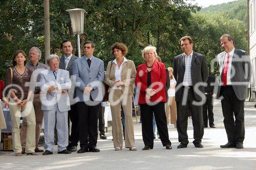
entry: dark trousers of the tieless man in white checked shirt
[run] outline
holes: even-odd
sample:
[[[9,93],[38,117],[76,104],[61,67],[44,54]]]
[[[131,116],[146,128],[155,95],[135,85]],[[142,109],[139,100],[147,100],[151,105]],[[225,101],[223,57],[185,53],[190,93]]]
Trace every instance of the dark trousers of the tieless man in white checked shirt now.
[[[183,87],[183,94],[185,87]],[[182,94],[182,95],[183,95]],[[203,123],[203,106],[196,106],[193,101],[198,102],[195,98],[193,88],[188,89],[187,98],[185,99],[185,105],[182,106],[182,100],[176,102],[177,105],[177,131],[179,135],[179,142],[188,144],[187,136],[187,117],[189,110],[192,115],[192,123],[194,128],[194,141],[193,143],[201,143],[204,135],[204,123]],[[184,98],[184,95],[183,95]]]

